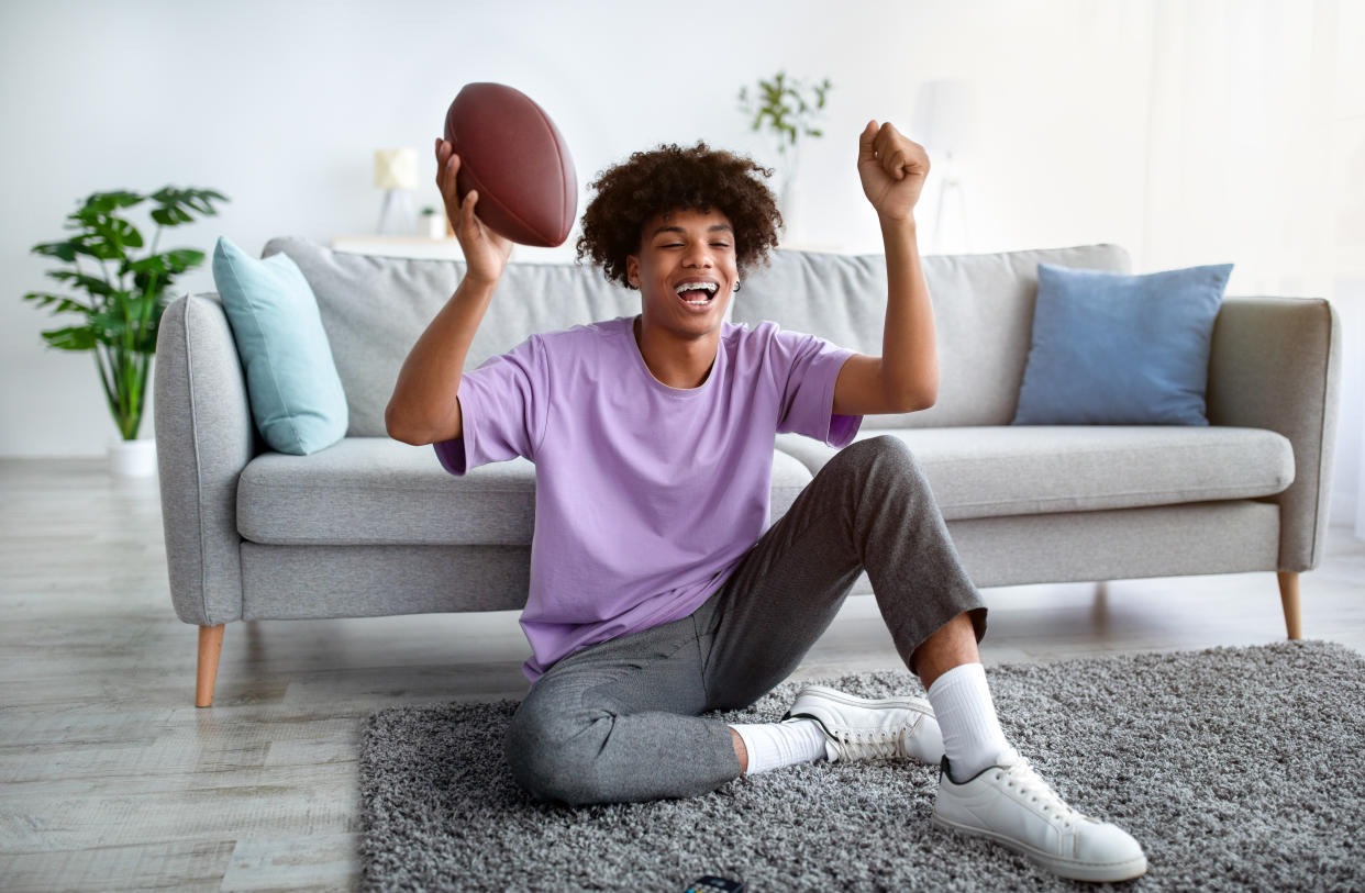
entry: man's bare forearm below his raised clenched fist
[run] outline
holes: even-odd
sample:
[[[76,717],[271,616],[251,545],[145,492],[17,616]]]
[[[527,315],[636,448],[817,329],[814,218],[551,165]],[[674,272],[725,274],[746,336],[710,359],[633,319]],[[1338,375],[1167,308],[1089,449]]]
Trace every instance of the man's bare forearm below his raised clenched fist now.
[[[915,218],[882,221],[886,245],[882,382],[887,395],[898,402],[928,408],[938,399],[938,348],[917,239]]]

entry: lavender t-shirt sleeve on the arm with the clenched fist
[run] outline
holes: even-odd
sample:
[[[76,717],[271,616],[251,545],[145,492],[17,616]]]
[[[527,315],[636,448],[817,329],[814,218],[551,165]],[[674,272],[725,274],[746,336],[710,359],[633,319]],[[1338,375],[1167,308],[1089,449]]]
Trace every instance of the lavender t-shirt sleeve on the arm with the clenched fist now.
[[[823,338],[778,329],[768,345],[778,369],[786,368],[777,429],[815,438],[833,447],[846,447],[863,424],[863,416],[834,414],[834,383],[853,350]]]

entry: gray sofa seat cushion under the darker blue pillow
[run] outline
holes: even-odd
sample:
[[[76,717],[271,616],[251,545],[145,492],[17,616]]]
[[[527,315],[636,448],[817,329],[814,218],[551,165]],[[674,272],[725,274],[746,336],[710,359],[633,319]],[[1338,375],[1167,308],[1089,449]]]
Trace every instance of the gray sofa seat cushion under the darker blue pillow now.
[[[1294,480],[1290,442],[1261,428],[990,427],[863,431],[910,447],[949,521],[1254,499]],[[837,450],[778,435],[819,469]]]

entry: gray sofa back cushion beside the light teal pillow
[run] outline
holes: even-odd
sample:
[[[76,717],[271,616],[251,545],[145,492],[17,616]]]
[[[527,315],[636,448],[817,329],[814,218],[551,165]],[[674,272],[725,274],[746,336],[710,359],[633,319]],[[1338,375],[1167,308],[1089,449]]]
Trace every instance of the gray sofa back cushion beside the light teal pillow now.
[[[300,236],[272,239],[318,297],[351,410],[347,436],[382,438],[384,408],[412,345],[450,300],[464,263],[382,258],[324,248]],[[640,312],[640,293],[607,282],[595,267],[509,263],[470,345],[464,368],[506,353],[532,333]]]

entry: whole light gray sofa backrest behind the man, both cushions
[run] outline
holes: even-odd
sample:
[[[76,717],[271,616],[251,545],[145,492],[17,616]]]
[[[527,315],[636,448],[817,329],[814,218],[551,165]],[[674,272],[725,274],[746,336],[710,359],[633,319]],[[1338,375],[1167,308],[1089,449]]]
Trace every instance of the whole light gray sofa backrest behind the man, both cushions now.
[[[345,387],[348,436],[384,436],[384,408],[418,337],[464,275],[459,260],[385,258],[332,251],[288,236],[263,256],[287,254],[318,299],[322,326]],[[870,416],[868,428],[999,425],[1014,417],[1032,339],[1037,264],[1127,273],[1119,245],[924,258],[934,303],[939,399],[906,416]],[[511,263],[502,274],[465,368],[554,331],[640,312],[640,293],[573,263]],[[886,259],[777,251],[736,296],[732,318],[774,320],[860,353],[882,353]]]

